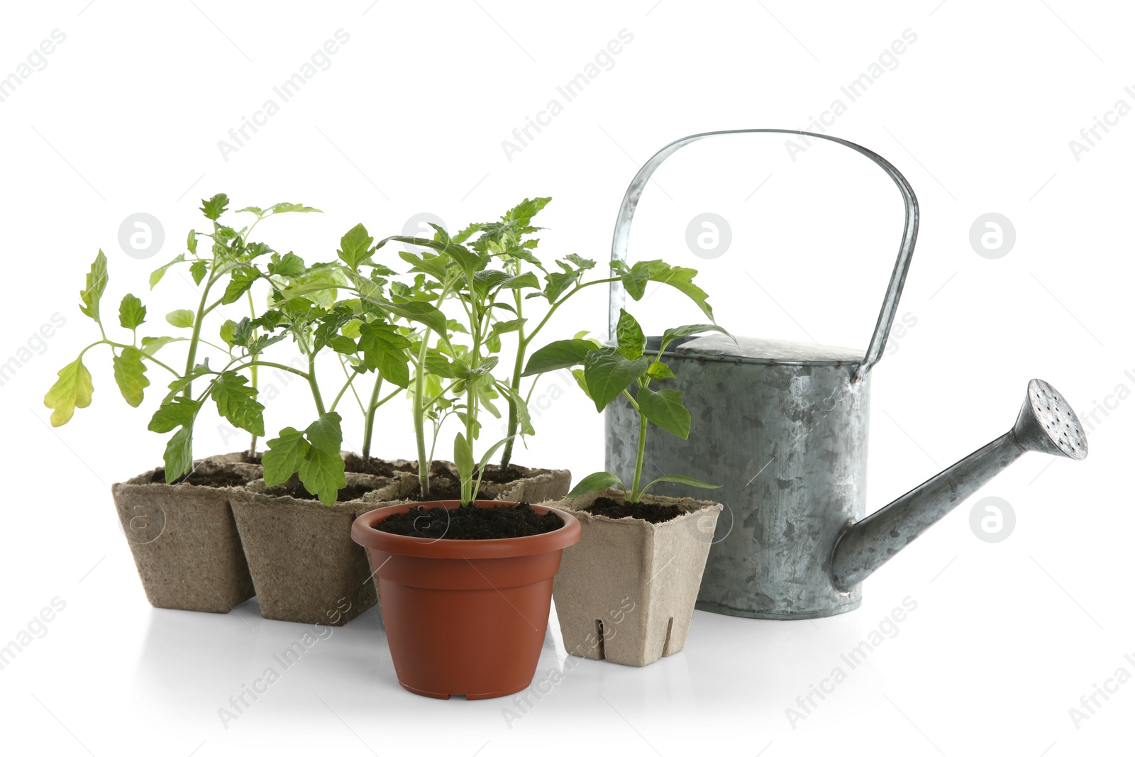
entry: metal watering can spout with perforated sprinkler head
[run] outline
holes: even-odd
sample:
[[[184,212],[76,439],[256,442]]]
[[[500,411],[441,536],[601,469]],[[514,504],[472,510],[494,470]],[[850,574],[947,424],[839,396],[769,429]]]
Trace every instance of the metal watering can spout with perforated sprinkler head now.
[[[832,553],[832,581],[850,591],[1026,452],[1087,456],[1084,429],[1046,381],[1033,379],[1012,429],[882,510],[847,527]]]

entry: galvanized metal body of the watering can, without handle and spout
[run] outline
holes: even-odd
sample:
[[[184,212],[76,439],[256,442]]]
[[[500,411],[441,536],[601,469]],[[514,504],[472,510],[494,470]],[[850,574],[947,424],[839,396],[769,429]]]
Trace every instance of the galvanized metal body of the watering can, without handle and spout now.
[[[653,434],[646,447],[648,478],[680,472],[721,485],[711,496],[725,510],[697,607],[767,619],[854,609],[859,586],[836,588],[831,562],[840,533],[866,513],[871,376],[852,380],[863,353],[737,340],[713,335],[667,348],[693,423],[688,440]],[[630,404],[612,403],[606,427],[607,470],[632,472]]]

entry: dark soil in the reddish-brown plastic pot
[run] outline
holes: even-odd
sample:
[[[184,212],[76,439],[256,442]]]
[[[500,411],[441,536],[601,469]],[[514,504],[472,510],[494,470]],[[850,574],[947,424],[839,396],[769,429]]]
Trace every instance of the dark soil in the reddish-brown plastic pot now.
[[[512,539],[548,533],[563,527],[555,513],[540,515],[527,502],[512,506],[424,507],[390,515],[375,524],[386,533],[429,539]]]

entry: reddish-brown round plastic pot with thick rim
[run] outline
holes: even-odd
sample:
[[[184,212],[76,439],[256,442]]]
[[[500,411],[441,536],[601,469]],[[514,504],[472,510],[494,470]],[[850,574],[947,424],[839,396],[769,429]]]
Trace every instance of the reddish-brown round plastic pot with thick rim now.
[[[428,503],[453,510],[461,503]],[[514,505],[479,499],[479,507]],[[565,547],[579,541],[574,515],[561,529],[514,539],[423,539],[376,523],[418,503],[363,513],[351,538],[370,553],[386,638],[402,688],[423,697],[504,697],[532,682],[548,628],[552,579]]]

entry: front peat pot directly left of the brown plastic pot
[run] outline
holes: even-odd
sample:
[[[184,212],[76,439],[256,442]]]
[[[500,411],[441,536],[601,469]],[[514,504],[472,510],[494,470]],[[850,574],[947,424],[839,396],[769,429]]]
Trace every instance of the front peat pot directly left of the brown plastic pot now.
[[[347,473],[340,502],[325,505],[299,479],[266,487],[252,481],[233,499],[257,589],[260,614],[274,621],[343,625],[375,606],[367,554],[351,540],[351,524],[389,499],[400,482]]]

